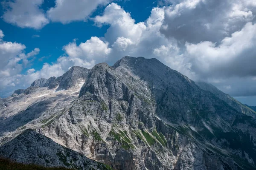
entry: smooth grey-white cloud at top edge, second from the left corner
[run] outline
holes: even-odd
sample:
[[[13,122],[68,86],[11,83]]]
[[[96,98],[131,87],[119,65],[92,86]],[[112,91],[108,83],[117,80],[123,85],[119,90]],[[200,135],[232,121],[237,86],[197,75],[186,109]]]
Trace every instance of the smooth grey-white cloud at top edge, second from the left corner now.
[[[63,24],[71,21],[86,20],[99,5],[109,0],[55,0],[55,7],[47,11],[47,16],[54,22]]]

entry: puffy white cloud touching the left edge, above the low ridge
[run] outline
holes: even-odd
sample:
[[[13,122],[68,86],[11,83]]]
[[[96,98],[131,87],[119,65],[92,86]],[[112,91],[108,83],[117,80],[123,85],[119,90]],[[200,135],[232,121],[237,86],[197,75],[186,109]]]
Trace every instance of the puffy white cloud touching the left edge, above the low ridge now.
[[[25,53],[26,46],[17,42],[0,41],[0,94],[6,96],[19,87],[26,87],[25,75],[21,71],[29,62],[29,58],[37,55],[40,51],[35,48]],[[32,69],[27,71],[32,73]]]

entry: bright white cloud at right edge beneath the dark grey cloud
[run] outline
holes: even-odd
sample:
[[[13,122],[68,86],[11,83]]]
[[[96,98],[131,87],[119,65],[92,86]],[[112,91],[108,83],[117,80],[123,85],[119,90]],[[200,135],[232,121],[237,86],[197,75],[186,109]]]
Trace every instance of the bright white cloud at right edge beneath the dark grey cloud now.
[[[188,62],[200,78],[256,76],[256,24],[247,23],[219,45],[186,43]]]

